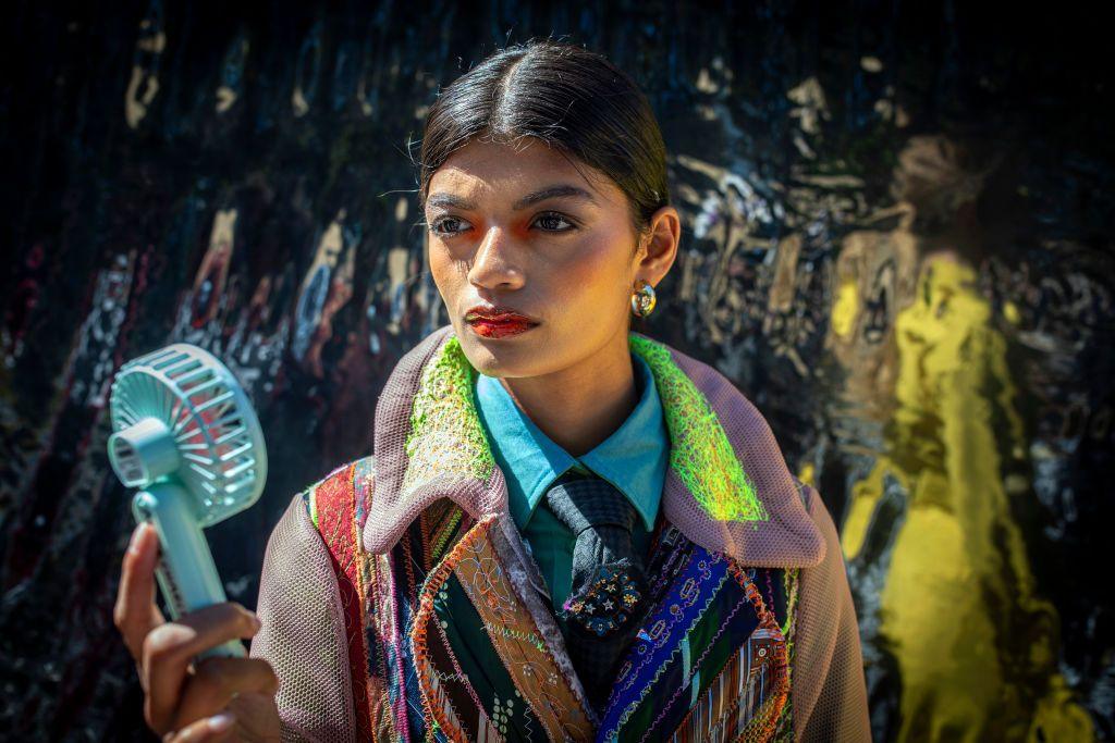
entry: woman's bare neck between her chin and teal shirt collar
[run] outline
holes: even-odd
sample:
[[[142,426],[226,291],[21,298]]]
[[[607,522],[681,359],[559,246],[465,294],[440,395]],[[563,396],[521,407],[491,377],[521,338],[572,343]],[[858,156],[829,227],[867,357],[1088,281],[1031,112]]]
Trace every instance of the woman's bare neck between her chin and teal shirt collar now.
[[[534,424],[573,457],[611,436],[638,402],[626,327],[571,366],[501,383]]]

